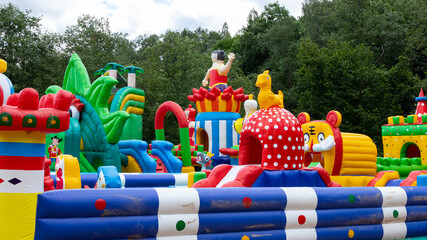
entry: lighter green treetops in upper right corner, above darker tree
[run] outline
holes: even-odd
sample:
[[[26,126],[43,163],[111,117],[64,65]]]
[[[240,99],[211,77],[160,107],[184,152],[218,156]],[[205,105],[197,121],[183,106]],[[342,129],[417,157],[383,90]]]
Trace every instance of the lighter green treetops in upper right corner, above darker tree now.
[[[306,36],[322,47],[329,41],[364,44],[373,52],[375,65],[386,68],[405,56],[411,71],[424,79],[425,9],[422,0],[306,0],[300,22]]]

